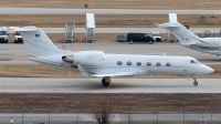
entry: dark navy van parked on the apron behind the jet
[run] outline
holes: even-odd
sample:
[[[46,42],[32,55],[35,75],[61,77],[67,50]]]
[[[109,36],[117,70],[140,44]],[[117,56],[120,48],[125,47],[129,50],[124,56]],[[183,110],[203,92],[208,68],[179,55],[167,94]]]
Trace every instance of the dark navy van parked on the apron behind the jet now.
[[[129,32],[127,33],[127,42],[133,44],[134,42],[149,42],[149,44],[154,43],[154,38],[148,33],[141,32]]]

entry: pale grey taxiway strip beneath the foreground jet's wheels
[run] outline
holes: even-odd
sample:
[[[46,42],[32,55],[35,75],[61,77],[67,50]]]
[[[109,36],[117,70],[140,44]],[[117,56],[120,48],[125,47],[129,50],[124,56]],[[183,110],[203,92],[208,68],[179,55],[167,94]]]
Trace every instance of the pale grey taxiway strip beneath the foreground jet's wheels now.
[[[221,79],[101,79],[0,78],[3,93],[221,93]]]

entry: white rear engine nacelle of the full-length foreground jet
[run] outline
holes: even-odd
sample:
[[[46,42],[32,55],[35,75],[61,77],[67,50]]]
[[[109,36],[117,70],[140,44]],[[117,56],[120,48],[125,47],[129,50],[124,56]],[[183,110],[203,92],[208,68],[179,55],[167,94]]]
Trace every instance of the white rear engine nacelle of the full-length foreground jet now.
[[[72,55],[64,55],[62,60],[73,64],[101,65],[105,61],[105,54],[103,51],[80,51]]]

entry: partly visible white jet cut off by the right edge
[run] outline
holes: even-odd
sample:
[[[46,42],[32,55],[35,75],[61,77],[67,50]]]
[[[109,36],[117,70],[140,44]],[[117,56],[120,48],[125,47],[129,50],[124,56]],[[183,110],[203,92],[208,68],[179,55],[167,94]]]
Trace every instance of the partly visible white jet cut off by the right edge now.
[[[169,13],[169,22],[158,24],[158,28],[169,30],[181,45],[203,52],[220,55],[221,38],[199,38],[177,21],[177,13]]]

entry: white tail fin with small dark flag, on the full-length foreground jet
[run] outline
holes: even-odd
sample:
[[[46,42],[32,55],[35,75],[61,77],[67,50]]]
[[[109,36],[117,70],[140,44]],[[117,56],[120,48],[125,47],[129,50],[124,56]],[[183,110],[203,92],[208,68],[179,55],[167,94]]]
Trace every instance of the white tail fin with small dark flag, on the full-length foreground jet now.
[[[35,27],[10,27],[9,29],[21,33],[27,51],[31,56],[53,55],[61,51],[41,29]]]

